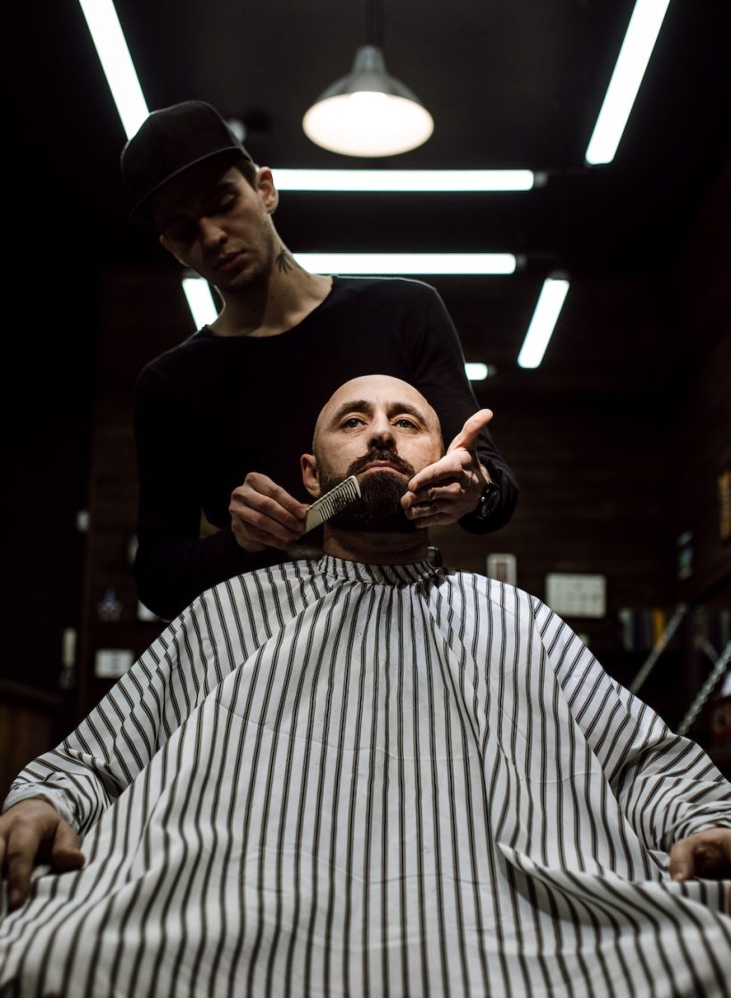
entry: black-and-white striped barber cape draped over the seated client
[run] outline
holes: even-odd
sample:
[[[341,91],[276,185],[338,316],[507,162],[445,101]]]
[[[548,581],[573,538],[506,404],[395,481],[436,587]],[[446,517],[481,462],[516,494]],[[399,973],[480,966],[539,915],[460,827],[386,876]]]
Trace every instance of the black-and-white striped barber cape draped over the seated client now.
[[[39,792],[87,863],[0,922],[3,995],[731,994],[728,884],[666,872],[729,783],[481,576],[224,583],[6,804]]]

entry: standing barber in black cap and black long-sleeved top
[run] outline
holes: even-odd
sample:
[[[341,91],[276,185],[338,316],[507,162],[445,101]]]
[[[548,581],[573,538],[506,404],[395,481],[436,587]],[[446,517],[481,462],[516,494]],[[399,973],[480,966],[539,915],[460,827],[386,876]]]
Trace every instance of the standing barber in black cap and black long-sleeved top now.
[[[222,301],[214,322],[147,364],[135,386],[134,574],[149,609],[171,619],[218,582],[302,553],[307,497],[292,469],[335,388],[371,371],[412,383],[445,434],[444,457],[409,483],[407,515],[476,534],[508,521],[517,484],[485,428],[491,413],[477,414],[433,287],[301,267],[274,226],[272,171],[204,102],[153,112],[121,169],[132,219]]]

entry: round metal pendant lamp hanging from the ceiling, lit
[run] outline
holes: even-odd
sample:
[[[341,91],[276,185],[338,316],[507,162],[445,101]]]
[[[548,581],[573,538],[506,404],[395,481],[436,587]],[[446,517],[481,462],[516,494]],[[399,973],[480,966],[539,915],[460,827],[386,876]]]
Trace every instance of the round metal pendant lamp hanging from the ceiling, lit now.
[[[320,95],[302,125],[318,146],[346,156],[406,153],[434,129],[418,98],[388,75],[375,45],[361,46],[351,73]]]

